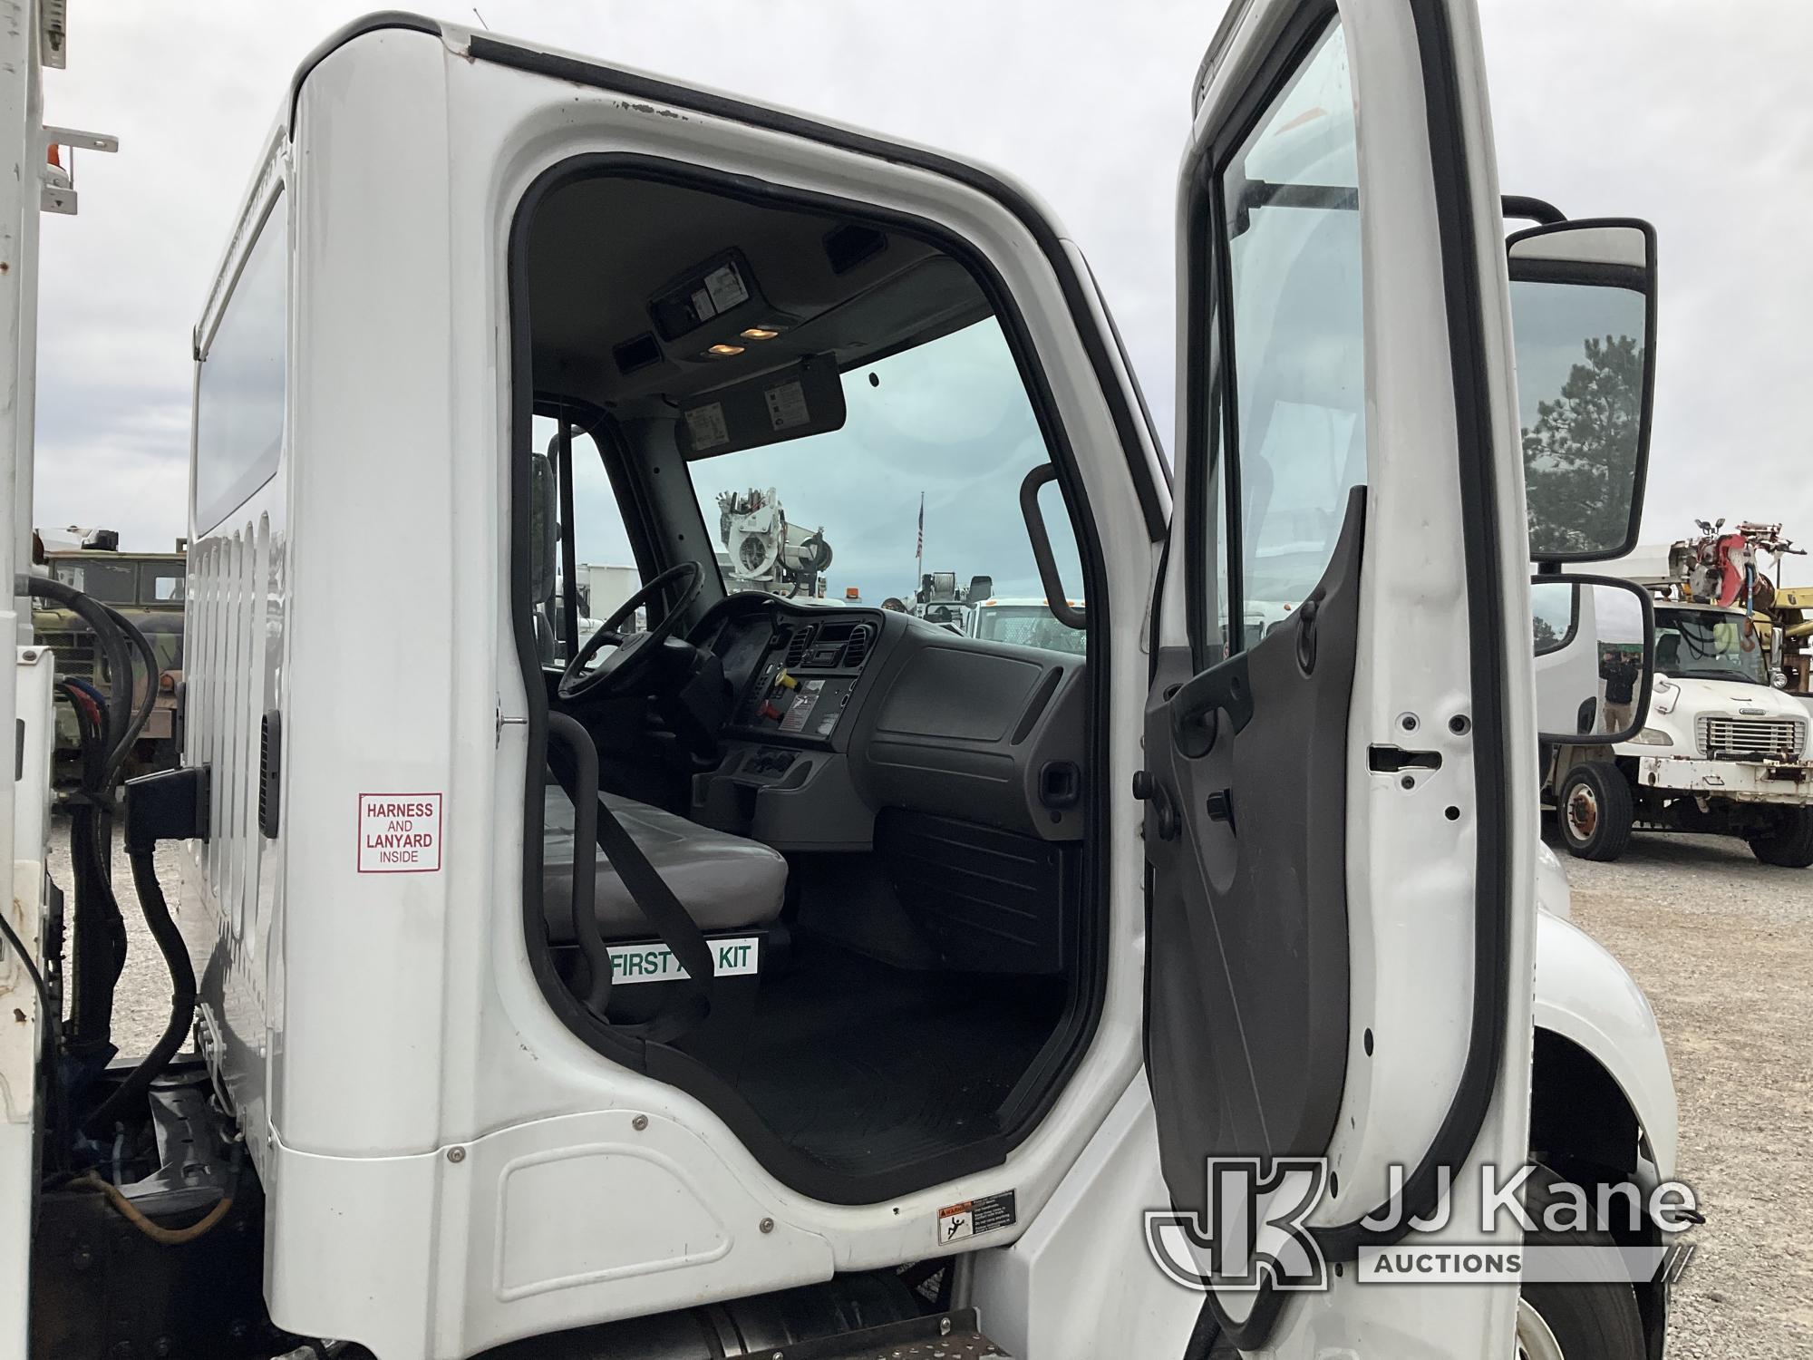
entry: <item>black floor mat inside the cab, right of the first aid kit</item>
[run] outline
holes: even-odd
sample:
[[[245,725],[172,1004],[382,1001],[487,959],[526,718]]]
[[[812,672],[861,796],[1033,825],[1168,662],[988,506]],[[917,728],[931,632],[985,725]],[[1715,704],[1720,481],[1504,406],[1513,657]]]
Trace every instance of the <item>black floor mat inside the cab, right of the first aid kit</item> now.
[[[738,1088],[827,1168],[887,1171],[995,1137],[1061,1006],[1052,977],[914,974],[800,941],[763,983]]]

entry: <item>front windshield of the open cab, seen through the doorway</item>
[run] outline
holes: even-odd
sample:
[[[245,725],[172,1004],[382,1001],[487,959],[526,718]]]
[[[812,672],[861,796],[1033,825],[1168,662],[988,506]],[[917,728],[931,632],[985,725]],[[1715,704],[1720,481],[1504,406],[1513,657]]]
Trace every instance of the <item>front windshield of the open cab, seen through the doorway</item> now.
[[[1001,325],[858,364],[841,384],[843,428],[687,464],[725,588],[834,600],[854,588],[954,618],[979,577],[988,595],[1044,598],[1019,488],[1050,455]],[[1061,580],[1081,586],[1055,484],[1039,504]]]

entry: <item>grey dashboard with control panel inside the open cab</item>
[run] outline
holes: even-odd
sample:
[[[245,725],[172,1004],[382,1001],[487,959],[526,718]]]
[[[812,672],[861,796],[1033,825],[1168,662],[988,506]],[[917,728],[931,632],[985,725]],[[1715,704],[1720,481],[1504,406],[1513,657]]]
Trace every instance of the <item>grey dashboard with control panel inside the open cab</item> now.
[[[778,849],[865,849],[885,809],[1082,834],[1082,656],[754,591],[691,640],[731,687],[694,821]]]

